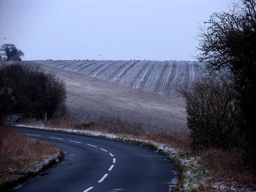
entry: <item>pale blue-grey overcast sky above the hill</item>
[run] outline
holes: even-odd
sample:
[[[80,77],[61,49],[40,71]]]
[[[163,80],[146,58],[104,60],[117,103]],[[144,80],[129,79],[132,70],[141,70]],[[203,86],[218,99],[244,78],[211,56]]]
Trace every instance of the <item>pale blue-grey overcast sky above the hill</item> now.
[[[198,24],[233,2],[0,0],[0,45],[24,60],[194,60]]]

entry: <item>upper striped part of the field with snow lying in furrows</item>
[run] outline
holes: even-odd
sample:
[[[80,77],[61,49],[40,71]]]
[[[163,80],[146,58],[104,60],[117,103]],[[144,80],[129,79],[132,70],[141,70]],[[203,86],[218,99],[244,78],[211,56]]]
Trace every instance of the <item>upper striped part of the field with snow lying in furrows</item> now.
[[[202,63],[184,61],[37,61],[100,80],[177,98],[177,90],[201,76]]]

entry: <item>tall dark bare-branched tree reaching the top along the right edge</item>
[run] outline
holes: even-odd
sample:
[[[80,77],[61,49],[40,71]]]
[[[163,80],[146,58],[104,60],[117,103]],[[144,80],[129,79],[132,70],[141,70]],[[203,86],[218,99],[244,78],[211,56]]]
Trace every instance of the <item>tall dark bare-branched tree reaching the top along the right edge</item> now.
[[[233,74],[241,111],[244,148],[256,158],[256,2],[242,0],[229,12],[214,13],[199,35],[198,59],[209,69],[228,69]],[[256,165],[256,161],[254,162]]]

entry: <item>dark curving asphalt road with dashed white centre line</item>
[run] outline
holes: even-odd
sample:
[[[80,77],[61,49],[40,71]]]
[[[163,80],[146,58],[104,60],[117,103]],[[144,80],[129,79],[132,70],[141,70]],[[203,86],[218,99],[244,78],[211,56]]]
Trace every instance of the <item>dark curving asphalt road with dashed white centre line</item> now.
[[[154,150],[78,134],[20,130],[60,147],[65,156],[13,191],[171,191],[175,186],[176,166]]]

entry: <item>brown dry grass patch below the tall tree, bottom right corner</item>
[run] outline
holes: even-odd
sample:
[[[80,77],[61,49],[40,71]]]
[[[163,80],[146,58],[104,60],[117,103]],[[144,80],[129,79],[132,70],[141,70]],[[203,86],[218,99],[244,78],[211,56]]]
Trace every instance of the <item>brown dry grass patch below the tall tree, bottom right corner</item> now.
[[[255,187],[255,172],[244,162],[240,150],[208,149],[201,151],[200,156],[202,163],[213,171],[213,181],[224,181],[227,186]]]

